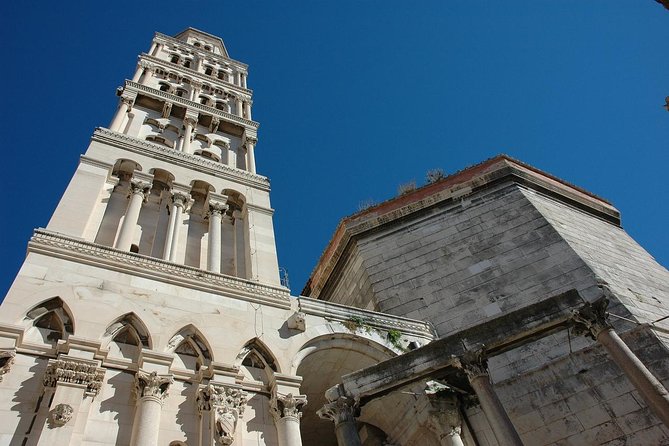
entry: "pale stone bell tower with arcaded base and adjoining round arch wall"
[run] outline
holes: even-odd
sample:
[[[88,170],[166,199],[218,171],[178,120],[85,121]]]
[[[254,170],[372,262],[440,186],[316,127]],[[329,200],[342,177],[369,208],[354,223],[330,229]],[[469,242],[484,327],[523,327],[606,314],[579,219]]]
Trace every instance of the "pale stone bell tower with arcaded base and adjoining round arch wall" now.
[[[0,307],[0,444],[331,444],[325,389],[433,339],[281,285],[247,73],[193,29],[140,56]]]

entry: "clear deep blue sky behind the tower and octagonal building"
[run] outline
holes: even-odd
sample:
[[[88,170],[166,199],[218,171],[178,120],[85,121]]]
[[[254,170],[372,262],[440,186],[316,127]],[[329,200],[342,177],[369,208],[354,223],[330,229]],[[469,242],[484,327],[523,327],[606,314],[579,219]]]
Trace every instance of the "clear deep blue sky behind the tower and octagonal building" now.
[[[508,153],[609,199],[669,264],[669,11],[653,0],[5,2],[0,294],[154,31],[250,65],[299,293],[339,219]]]

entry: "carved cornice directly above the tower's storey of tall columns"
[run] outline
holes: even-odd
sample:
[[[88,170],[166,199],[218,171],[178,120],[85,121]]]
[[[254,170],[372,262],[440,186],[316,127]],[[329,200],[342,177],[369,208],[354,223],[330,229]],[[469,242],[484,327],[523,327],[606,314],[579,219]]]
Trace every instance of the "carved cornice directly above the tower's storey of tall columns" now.
[[[170,149],[169,147],[161,146],[160,144],[154,144],[103,127],[95,129],[92,139],[93,141],[110,144],[158,160],[169,161],[183,167],[234,181],[255,189],[269,191],[269,180],[262,175],[257,175],[246,170],[234,169],[225,164],[202,158],[201,156],[180,152],[175,149]]]

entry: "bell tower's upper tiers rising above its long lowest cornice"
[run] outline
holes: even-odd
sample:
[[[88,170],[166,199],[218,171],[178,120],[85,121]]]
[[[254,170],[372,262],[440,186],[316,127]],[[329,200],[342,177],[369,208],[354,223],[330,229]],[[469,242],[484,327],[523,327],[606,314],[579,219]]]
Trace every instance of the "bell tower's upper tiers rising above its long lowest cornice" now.
[[[47,230],[278,285],[247,68],[218,37],[156,34]]]

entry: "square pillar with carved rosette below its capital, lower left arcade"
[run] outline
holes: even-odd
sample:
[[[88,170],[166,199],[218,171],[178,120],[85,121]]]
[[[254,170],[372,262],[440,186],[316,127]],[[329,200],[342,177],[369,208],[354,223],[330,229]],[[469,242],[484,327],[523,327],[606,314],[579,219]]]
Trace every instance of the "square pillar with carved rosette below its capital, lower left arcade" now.
[[[30,444],[52,446],[70,444],[78,417],[88,417],[93,398],[100,392],[105,370],[98,361],[61,355],[49,360],[44,374],[42,402],[35,426],[41,426],[39,438]]]

